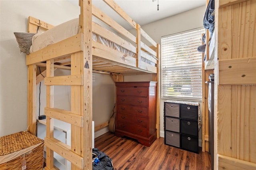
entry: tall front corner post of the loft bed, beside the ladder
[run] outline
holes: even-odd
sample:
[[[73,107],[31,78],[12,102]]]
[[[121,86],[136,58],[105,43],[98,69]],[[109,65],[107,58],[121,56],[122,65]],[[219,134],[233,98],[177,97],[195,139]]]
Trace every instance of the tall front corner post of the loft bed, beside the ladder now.
[[[84,170],[92,169],[92,1],[80,0],[80,26],[83,33],[83,158]]]

